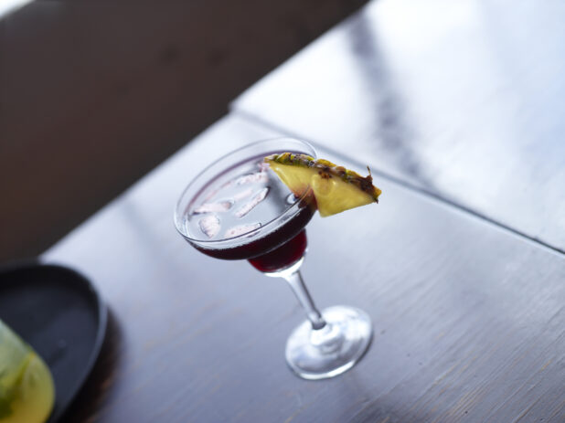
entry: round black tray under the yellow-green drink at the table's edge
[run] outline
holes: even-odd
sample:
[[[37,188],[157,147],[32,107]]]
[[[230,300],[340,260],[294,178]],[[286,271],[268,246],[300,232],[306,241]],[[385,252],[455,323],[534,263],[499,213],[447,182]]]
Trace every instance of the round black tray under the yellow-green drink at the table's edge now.
[[[57,421],[91,372],[106,331],[107,312],[91,282],[56,265],[0,270],[0,319],[30,344],[55,382]]]

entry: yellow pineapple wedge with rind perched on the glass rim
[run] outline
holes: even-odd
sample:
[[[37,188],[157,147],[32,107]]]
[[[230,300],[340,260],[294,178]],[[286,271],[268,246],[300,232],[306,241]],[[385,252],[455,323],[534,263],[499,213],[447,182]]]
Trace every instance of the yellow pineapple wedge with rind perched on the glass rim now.
[[[380,189],[373,178],[306,154],[272,154],[264,159],[295,196],[312,187],[320,216],[332,216],[350,208],[378,203]]]

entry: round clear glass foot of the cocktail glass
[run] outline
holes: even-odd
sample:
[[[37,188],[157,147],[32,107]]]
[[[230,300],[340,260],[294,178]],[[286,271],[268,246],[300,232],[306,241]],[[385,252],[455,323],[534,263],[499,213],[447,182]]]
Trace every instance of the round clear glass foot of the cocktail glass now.
[[[326,325],[300,324],[286,342],[286,362],[304,379],[341,375],[365,354],[373,329],[366,312],[337,305],[322,312]]]

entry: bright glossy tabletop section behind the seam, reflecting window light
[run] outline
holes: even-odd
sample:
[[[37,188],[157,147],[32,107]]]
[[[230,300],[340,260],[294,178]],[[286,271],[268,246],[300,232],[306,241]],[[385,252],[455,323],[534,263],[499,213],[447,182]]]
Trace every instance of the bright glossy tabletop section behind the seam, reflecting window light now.
[[[236,111],[565,251],[565,2],[379,0]]]

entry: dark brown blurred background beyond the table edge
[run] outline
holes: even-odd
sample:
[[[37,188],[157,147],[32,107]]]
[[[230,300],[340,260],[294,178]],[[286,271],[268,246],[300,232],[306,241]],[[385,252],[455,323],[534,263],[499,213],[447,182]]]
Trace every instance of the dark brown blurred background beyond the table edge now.
[[[0,16],[0,261],[40,254],[364,3],[37,0]]]

